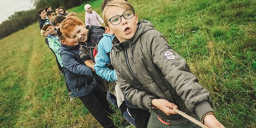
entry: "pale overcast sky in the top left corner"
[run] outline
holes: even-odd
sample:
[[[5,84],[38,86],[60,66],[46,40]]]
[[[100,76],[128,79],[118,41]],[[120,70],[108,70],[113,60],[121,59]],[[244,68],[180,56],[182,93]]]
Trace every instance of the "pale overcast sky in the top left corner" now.
[[[0,0],[0,23],[7,20],[14,12],[33,8],[32,0]]]

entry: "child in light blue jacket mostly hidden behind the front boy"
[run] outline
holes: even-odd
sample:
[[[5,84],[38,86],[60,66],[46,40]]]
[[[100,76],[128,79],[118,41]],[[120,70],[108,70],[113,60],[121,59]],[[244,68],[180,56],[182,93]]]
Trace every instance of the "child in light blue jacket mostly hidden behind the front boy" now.
[[[112,0],[104,0],[102,3],[102,10],[104,9],[106,3]],[[116,99],[117,106],[120,108],[121,112],[129,112],[131,116],[135,119],[135,124],[137,128],[146,128],[148,124],[148,119],[150,117],[150,113],[146,110],[140,109],[138,106],[132,105],[131,102],[128,102],[121,91],[119,86],[116,85],[117,75],[115,70],[113,70],[113,66],[110,62],[110,52],[112,46],[112,40],[114,38],[113,32],[107,33],[103,35],[103,38],[98,44],[98,54],[96,55],[95,62],[96,64],[93,66],[96,74],[101,76],[106,80],[106,84],[108,85],[109,90],[114,95],[110,95],[112,99]],[[122,104],[123,103],[123,104]],[[128,107],[128,108],[127,108]],[[126,111],[122,111],[126,109]],[[125,116],[125,115],[124,115]],[[126,118],[129,119],[129,118]],[[131,121],[130,121],[131,122]]]

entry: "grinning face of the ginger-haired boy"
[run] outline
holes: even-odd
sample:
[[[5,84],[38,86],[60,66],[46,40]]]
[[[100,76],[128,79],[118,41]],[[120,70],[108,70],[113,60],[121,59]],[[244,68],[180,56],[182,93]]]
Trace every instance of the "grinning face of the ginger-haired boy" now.
[[[84,25],[76,25],[73,30],[69,32],[69,37],[78,42],[86,42],[89,30]]]

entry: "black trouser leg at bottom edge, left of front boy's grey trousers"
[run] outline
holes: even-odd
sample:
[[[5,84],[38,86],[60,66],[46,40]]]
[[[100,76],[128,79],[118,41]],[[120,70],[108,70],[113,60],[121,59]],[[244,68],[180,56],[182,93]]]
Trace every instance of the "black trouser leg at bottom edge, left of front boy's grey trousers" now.
[[[148,110],[128,108],[131,116],[135,119],[136,128],[147,128],[150,113]]]

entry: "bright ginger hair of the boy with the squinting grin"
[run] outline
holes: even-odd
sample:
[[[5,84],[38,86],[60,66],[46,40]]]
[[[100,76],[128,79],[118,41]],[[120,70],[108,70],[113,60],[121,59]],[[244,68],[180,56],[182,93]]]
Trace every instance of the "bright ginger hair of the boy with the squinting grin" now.
[[[70,38],[69,32],[73,31],[73,29],[78,25],[84,26],[84,22],[80,20],[79,17],[76,17],[76,16],[67,17],[65,20],[61,22],[62,36]]]

